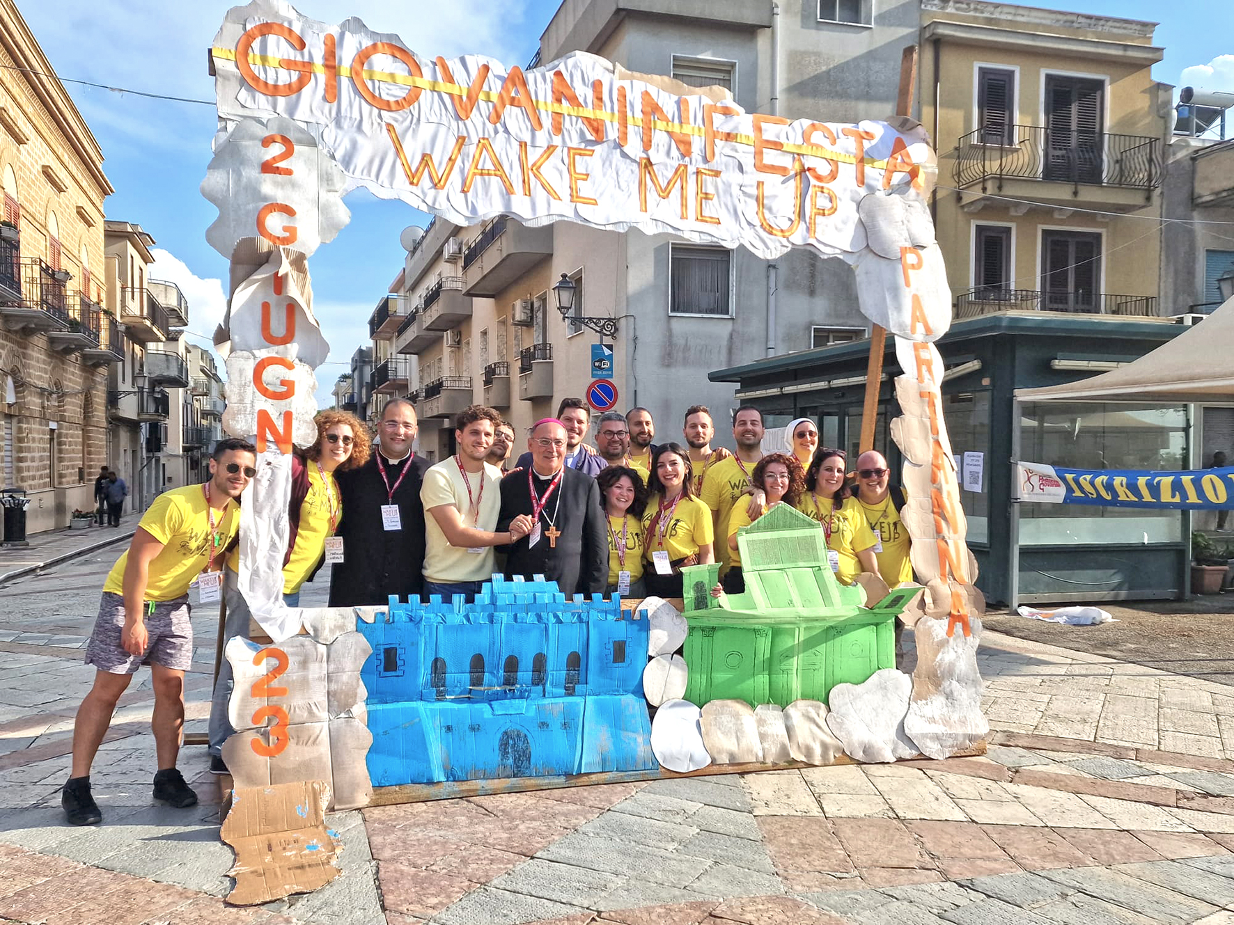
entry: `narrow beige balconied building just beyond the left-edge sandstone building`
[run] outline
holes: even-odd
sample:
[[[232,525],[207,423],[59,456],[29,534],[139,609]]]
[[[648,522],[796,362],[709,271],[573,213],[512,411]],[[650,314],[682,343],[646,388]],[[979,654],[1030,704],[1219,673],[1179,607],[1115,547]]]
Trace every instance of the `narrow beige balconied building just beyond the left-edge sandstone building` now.
[[[143,511],[189,481],[183,429],[193,418],[184,408],[191,377],[180,333],[189,305],[174,282],[149,279],[154,238],[139,224],[107,220],[104,239],[106,305],[126,333],[107,380],[107,460],[128,483],[131,509]]]

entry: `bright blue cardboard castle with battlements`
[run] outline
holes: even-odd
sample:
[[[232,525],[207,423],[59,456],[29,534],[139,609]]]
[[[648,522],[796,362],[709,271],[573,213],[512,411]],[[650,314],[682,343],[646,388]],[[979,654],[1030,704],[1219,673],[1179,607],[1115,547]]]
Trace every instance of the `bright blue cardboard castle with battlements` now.
[[[391,598],[357,629],[374,786],[656,767],[648,620],[616,597],[494,575],[475,603]]]

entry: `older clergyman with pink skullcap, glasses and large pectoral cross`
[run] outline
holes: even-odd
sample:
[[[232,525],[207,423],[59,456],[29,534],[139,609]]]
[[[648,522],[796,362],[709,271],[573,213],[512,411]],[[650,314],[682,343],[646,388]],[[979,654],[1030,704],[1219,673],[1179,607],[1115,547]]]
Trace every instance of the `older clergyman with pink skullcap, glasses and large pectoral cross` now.
[[[501,480],[497,532],[518,514],[532,518],[532,532],[505,546],[506,574],[531,581],[543,575],[561,593],[603,593],[608,580],[608,535],[600,486],[565,465],[566,433],[557,418],[532,426],[527,440],[531,465]]]

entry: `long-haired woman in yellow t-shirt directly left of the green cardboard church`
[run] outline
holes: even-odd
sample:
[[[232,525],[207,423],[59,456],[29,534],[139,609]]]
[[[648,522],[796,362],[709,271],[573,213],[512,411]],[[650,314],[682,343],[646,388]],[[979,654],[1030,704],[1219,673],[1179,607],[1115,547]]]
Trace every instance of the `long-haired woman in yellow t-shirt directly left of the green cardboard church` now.
[[[677,443],[656,448],[643,514],[643,580],[648,594],[681,597],[681,567],[716,561],[711,508],[694,497],[690,454]]]

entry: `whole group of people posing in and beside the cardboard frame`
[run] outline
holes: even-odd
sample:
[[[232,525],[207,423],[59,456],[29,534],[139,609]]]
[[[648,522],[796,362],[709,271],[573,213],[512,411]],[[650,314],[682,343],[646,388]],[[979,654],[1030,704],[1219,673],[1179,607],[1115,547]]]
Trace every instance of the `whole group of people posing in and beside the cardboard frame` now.
[[[735,453],[712,446],[714,423],[701,405],[686,409],[684,445],[655,444],[652,413],[632,408],[602,414],[592,448],[585,443],[590,418],[581,400],[564,400],[557,417],[529,428],[527,451],[507,467],[515,430],[486,406],[457,416],[457,453],[436,465],[413,449],[418,421],[407,400],[385,406],[375,440],[353,414],[318,413],[317,439],[292,454],[284,602],[296,606],[301,586],[325,564],[332,565],[331,607],[470,597],[497,571],[543,575],[566,596],[680,597],[681,569],[717,560],[722,590],[738,593],[744,582],[737,536],[782,503],[822,523],[839,581],[863,571],[888,585],[912,578],[903,496],[888,487],[879,453],[861,454],[854,487],[844,451],[819,448],[808,418],[793,421],[784,451],[770,454],[763,453],[763,414],[752,406],[734,416]],[[101,819],[90,766],[142,664],[152,666],[154,682],[154,797],[178,807],[196,803],[175,770],[193,655],[189,591],[197,586],[199,603],[226,601],[227,638],[247,634],[237,508],[255,465],[252,444],[220,442],[210,481],[159,496],[111,570],[86,650],[95,684],[78,710],[73,776],[62,798],[70,823]],[[225,661],[210,719],[217,773],[226,772],[222,744],[233,731],[230,694]]]

